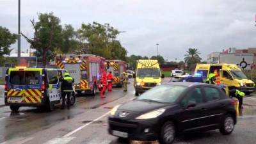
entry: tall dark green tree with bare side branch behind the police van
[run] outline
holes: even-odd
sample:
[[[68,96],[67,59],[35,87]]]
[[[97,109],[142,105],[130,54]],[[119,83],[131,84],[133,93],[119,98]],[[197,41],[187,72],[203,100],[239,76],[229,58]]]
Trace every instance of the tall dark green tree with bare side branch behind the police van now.
[[[53,15],[53,13],[39,13],[38,22],[30,20],[35,30],[34,37],[28,38],[23,35],[26,40],[31,44],[32,49],[36,49],[42,56],[42,63],[46,65],[49,61],[47,52],[54,54],[54,51],[61,47],[63,42],[62,39],[62,28],[60,25],[60,19]],[[51,56],[50,56],[51,57]]]

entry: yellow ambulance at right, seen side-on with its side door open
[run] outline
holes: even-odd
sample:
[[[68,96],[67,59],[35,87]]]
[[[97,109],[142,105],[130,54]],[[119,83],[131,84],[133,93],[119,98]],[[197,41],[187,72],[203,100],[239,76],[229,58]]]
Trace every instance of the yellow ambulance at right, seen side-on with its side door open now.
[[[195,74],[201,74],[203,77],[216,72],[217,80],[229,89],[236,88],[247,94],[254,91],[255,83],[248,79],[237,65],[227,63],[197,64],[195,68]]]

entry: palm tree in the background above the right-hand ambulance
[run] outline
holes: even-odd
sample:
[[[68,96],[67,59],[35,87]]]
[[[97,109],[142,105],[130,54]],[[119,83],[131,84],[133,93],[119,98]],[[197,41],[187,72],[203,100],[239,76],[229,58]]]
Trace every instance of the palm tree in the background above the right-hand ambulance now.
[[[199,54],[201,54],[198,49],[193,49],[193,48],[189,48],[188,49],[188,54],[185,54],[185,58],[184,61],[186,63],[188,63],[188,61],[193,61],[194,63],[200,63],[200,61],[202,60],[202,58],[200,58]]]

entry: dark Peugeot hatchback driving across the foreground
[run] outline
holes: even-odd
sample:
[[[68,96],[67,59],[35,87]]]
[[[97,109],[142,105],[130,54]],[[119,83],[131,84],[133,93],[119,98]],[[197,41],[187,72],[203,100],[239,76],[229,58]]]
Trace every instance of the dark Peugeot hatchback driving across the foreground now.
[[[168,83],[112,109],[109,134],[131,140],[173,143],[183,132],[220,129],[231,134],[235,102],[210,84]]]

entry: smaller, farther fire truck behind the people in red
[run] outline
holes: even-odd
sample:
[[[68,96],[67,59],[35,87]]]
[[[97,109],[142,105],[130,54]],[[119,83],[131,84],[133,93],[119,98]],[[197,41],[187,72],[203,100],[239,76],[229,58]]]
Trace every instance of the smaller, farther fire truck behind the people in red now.
[[[106,60],[107,72],[112,72],[114,81],[113,84],[122,87],[123,72],[126,72],[126,63],[122,60]]]

